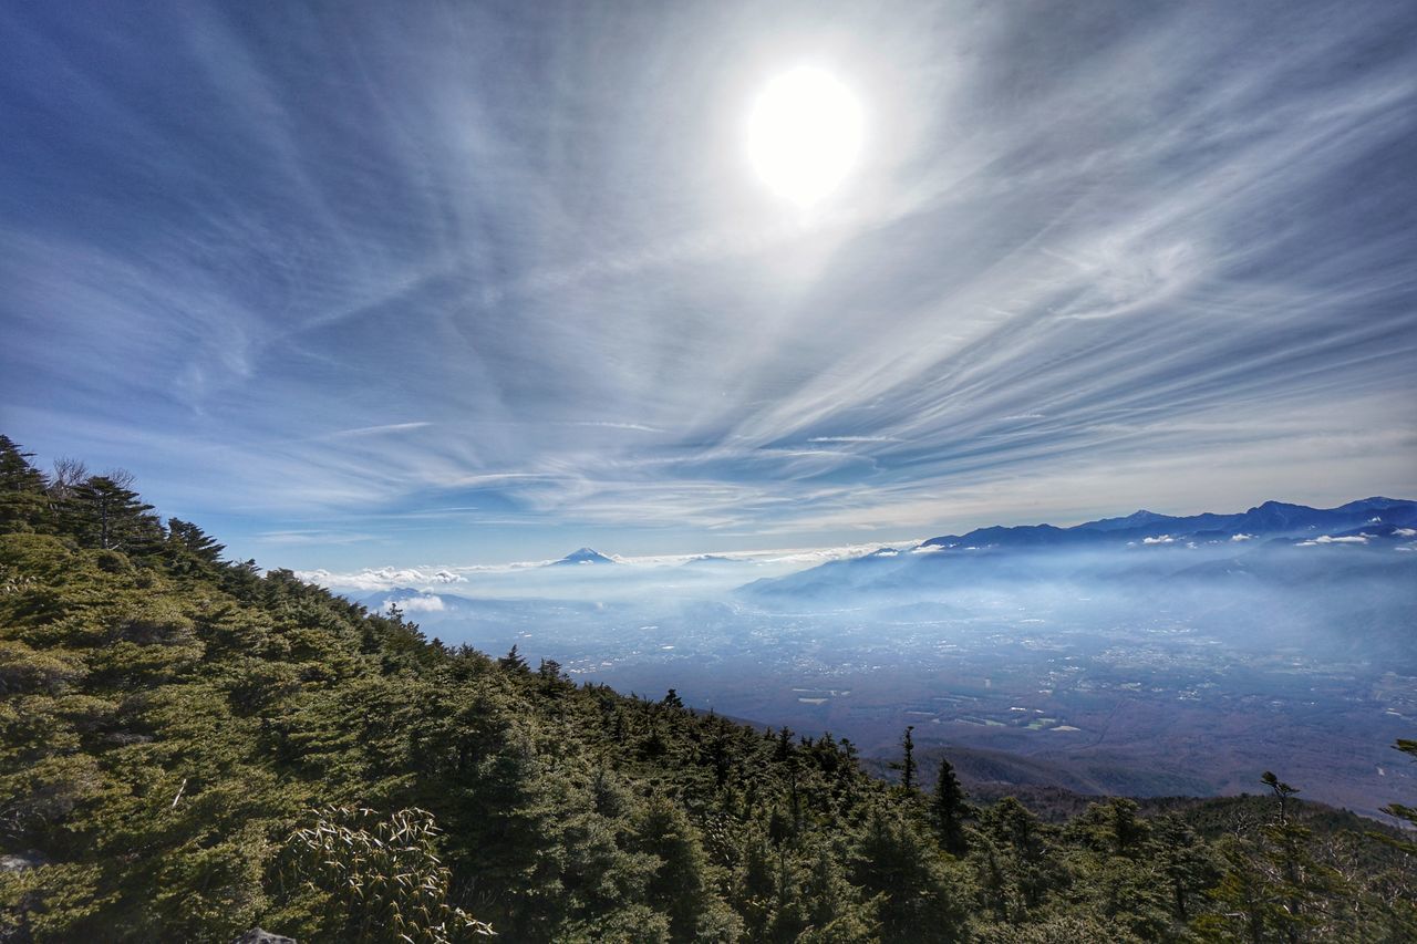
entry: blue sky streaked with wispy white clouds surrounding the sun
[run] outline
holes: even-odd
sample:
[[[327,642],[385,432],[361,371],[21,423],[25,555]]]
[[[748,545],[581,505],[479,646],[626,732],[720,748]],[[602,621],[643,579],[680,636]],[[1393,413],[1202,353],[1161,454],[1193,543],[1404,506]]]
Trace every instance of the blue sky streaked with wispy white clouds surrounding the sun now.
[[[1401,3],[7,3],[0,428],[266,566],[1417,493]],[[836,75],[803,210],[757,89]]]

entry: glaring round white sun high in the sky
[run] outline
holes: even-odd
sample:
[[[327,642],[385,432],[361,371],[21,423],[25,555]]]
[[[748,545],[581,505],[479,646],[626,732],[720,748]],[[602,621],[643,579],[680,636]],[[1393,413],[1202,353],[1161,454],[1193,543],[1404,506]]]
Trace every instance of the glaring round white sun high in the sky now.
[[[811,206],[842,183],[862,149],[862,108],[835,75],[799,67],[774,78],[748,115],[748,159],[777,194]]]

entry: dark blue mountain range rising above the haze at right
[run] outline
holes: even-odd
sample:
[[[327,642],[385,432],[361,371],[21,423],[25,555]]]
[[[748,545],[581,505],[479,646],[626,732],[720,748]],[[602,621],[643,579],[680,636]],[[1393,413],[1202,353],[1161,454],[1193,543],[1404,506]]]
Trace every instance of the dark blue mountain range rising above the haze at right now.
[[[1369,570],[1417,566],[1417,502],[1369,498],[1332,509],[1265,502],[1233,515],[1134,512],[1071,527],[981,527],[931,537],[911,549],[883,547],[741,588],[747,597],[792,600],[863,592],[898,594],[971,581],[1264,577],[1309,580],[1345,561],[1316,549],[1366,549]],[[1393,554],[1391,551],[1404,551]]]

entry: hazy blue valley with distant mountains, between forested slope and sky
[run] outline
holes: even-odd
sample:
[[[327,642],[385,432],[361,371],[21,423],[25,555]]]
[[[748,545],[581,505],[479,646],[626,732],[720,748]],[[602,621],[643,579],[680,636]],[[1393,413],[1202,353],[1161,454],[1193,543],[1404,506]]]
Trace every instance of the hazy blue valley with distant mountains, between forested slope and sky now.
[[[1282,765],[1369,815],[1411,788],[1389,744],[1417,720],[1413,502],[302,575],[451,645],[867,755],[914,724],[982,780],[1210,795]]]

